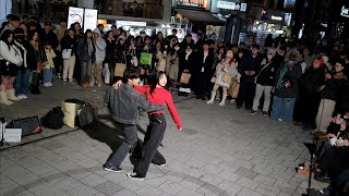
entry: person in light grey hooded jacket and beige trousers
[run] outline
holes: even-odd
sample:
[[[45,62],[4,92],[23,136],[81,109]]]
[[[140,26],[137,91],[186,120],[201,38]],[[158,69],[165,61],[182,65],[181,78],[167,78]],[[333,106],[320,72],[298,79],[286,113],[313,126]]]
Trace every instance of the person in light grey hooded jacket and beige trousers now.
[[[101,71],[103,71],[103,62],[106,58],[106,48],[107,42],[104,38],[100,36],[100,29],[95,28],[94,32],[94,42],[95,42],[95,56],[96,61],[92,65],[92,73],[91,73],[91,85],[94,86],[97,82],[98,87],[101,87]]]

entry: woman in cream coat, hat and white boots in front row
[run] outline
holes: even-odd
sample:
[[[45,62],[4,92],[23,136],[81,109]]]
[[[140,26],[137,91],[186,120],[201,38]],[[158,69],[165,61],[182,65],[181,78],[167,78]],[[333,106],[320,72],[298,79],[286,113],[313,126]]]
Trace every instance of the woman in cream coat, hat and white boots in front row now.
[[[240,82],[240,74],[237,70],[237,66],[238,64],[233,59],[232,51],[228,50],[226,53],[226,58],[222,59],[216,68],[216,73],[215,73],[216,82],[210,94],[210,99],[206,102],[207,105],[214,103],[214,99],[216,97],[216,93],[219,87],[222,88],[222,98],[221,98],[221,101],[219,102],[219,106],[226,105],[228,88],[232,79],[236,79],[238,83]]]

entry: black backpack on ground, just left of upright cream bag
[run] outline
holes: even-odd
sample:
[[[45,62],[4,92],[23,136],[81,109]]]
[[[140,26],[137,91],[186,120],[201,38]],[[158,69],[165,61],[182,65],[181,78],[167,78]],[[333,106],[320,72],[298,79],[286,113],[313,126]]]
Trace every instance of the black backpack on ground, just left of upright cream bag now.
[[[59,130],[63,126],[64,113],[61,107],[52,108],[46,115],[43,117],[43,125],[51,130]]]

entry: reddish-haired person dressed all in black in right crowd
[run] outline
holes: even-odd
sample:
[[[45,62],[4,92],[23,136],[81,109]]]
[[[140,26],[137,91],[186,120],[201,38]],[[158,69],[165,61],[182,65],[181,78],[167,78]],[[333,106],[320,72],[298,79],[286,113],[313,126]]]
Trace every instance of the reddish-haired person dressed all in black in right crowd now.
[[[300,96],[297,100],[293,118],[296,125],[302,126],[306,131],[316,127],[315,118],[321,100],[318,88],[325,81],[325,69],[323,58],[317,57],[313,65],[305,70],[300,81]]]

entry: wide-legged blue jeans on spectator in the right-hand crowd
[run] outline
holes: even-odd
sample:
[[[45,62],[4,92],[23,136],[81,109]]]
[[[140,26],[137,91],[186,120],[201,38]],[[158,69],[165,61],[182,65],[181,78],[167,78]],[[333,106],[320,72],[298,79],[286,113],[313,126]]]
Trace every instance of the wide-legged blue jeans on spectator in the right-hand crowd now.
[[[274,96],[270,119],[281,119],[286,122],[292,122],[294,103],[296,98],[281,98],[278,96]]]

